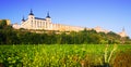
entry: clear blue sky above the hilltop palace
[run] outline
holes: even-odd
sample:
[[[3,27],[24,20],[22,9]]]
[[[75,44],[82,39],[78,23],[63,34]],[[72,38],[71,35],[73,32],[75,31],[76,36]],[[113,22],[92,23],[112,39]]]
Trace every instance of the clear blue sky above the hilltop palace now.
[[[66,24],[120,32],[131,37],[130,0],[0,0],[0,19],[19,23],[27,18],[31,9],[36,17],[45,18],[49,12],[53,24]]]

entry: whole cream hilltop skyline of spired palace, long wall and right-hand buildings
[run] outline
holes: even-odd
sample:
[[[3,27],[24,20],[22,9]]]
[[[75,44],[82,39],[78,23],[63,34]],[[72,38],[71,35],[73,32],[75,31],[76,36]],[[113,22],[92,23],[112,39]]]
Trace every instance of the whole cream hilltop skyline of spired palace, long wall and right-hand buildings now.
[[[32,29],[32,30],[59,30],[59,31],[80,31],[84,30],[86,27],[80,27],[80,26],[70,26],[70,25],[63,25],[63,24],[53,24],[51,22],[51,17],[49,15],[49,12],[47,13],[46,18],[35,17],[33,11],[31,10],[28,17],[25,19],[22,18],[21,25],[13,24],[13,28],[20,29]],[[103,29],[100,27],[95,28],[86,28],[87,30],[96,30],[97,32],[109,32],[109,30]],[[118,34],[121,37],[126,37],[126,31]]]

